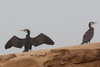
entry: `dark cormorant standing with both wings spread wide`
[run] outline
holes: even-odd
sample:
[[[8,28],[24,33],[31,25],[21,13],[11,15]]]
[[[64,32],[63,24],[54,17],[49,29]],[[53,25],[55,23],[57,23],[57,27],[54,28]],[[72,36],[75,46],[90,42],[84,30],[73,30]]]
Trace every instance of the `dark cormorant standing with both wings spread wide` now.
[[[5,49],[11,48],[11,47],[17,47],[17,48],[22,48],[24,46],[24,51],[23,52],[28,52],[29,50],[31,51],[32,45],[35,47],[41,45],[41,44],[48,44],[48,45],[54,45],[54,42],[52,39],[50,39],[48,36],[45,34],[41,33],[38,36],[31,38],[30,37],[30,30],[24,29],[21,30],[27,33],[25,39],[20,39],[17,36],[13,36],[5,45]]]

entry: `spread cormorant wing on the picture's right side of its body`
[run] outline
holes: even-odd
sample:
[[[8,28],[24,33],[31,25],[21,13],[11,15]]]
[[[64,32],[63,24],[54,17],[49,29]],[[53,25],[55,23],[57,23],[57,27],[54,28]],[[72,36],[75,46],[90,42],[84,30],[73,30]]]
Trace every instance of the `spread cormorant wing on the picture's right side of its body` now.
[[[54,45],[54,41],[43,33],[39,34],[35,38],[31,38],[30,42],[34,46],[39,46],[41,44]]]

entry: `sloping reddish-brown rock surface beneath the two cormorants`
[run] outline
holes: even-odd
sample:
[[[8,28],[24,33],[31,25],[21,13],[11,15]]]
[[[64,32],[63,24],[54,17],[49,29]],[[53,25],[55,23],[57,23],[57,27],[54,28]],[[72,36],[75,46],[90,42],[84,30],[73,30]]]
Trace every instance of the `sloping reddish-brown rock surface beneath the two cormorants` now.
[[[100,43],[0,55],[0,67],[100,67]]]

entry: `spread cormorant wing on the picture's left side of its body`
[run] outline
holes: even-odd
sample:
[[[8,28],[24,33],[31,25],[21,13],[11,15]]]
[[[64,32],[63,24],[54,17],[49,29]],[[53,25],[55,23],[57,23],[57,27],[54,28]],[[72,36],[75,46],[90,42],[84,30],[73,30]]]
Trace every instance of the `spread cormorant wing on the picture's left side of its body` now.
[[[11,48],[12,46],[22,48],[25,44],[25,39],[20,39],[17,36],[13,36],[5,45],[5,49]]]

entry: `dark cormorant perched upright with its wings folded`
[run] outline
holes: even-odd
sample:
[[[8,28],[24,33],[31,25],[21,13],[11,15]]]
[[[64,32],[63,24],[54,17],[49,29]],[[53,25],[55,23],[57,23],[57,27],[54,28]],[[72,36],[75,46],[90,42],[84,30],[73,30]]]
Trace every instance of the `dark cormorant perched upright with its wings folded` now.
[[[89,30],[84,34],[83,36],[83,42],[81,44],[84,43],[90,43],[91,39],[93,38],[94,35],[94,28],[92,27],[92,25],[96,24],[97,22],[90,22],[89,23]]]

